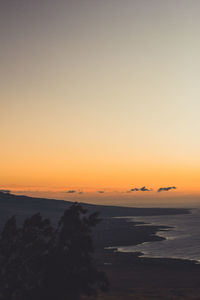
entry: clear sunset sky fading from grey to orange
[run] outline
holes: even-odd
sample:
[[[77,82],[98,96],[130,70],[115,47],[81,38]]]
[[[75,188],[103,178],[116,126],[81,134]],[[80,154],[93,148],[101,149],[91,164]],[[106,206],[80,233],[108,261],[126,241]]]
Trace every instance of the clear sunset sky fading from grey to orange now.
[[[200,200],[199,10],[0,0],[0,188]]]

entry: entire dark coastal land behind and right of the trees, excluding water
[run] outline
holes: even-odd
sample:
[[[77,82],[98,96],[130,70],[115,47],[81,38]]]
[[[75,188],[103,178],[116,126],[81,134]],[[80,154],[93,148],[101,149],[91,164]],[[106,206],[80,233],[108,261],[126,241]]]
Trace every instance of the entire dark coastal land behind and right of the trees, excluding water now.
[[[17,196],[0,192],[0,228],[8,217],[16,215],[18,222],[34,213],[57,222],[72,202]],[[90,213],[99,211],[102,222],[93,232],[95,260],[106,272],[110,292],[100,294],[99,300],[131,299],[200,299],[200,265],[179,259],[144,258],[142,253],[120,253],[105,247],[136,245],[162,240],[157,231],[170,230],[167,226],[143,226],[121,216],[151,216],[188,214],[188,209],[128,208],[83,203]],[[88,298],[87,298],[88,299]],[[92,299],[92,298],[91,298]]]

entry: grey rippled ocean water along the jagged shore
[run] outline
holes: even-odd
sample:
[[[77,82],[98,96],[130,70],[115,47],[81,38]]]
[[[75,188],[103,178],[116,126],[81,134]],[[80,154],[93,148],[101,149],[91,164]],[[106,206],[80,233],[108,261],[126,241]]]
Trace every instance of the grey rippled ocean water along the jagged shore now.
[[[118,247],[121,252],[140,251],[145,257],[181,258],[200,262],[200,209],[191,214],[174,216],[134,217],[133,221],[145,222],[145,226],[166,225],[170,228],[157,235],[166,240],[145,242],[136,246]]]

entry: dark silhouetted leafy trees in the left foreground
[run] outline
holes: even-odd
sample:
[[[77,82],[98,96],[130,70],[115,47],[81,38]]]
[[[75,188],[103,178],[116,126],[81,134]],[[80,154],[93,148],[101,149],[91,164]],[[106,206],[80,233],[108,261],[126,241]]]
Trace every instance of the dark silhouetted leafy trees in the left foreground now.
[[[21,227],[11,217],[0,236],[0,299],[77,300],[107,290],[92,256],[91,232],[99,221],[77,203],[56,228],[39,213]]]

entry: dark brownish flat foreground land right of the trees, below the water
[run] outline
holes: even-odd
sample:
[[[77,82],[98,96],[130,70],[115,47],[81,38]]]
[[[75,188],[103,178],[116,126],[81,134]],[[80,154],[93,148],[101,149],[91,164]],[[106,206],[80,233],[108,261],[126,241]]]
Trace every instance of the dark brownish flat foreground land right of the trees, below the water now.
[[[195,262],[139,255],[107,250],[101,269],[109,278],[110,292],[101,294],[98,299],[200,299],[200,266]]]

